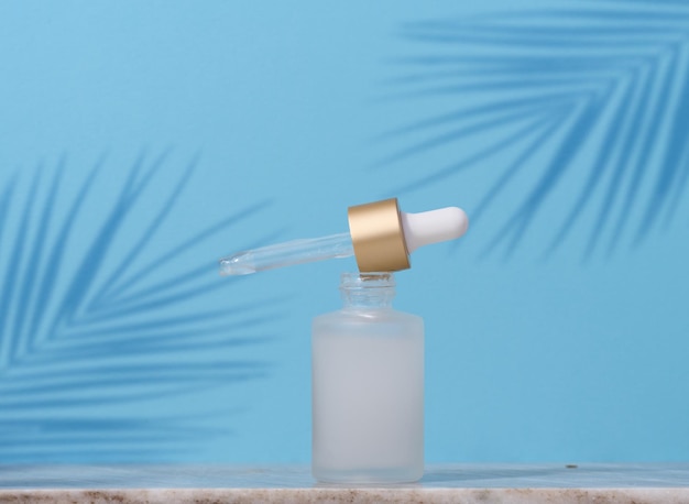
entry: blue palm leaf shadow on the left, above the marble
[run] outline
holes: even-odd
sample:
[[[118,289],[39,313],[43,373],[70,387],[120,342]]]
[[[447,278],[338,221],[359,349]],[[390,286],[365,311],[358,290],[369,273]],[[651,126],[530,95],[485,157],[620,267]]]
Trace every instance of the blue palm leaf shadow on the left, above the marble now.
[[[215,260],[174,263],[270,202],[237,209],[156,256],[155,237],[174,218],[197,161],[169,194],[158,196],[150,187],[168,155],[140,155],[109,209],[89,200],[103,163],[96,163],[70,200],[62,197],[65,158],[52,177],[36,168],[23,193],[20,176],[0,188],[2,462],[160,460],[188,451],[218,435],[205,425],[208,412],[113,417],[112,407],[240,384],[270,371],[267,362],[249,355],[271,339],[265,320],[281,314],[266,317],[265,300],[247,299],[231,282],[223,297],[232,306],[198,308],[192,302],[228,289],[228,283],[218,280]],[[144,197],[149,204],[162,199],[152,216],[136,210]],[[100,223],[84,233],[92,238],[81,239],[88,244],[75,258],[70,246],[86,211]],[[133,220],[144,224],[141,238],[127,240],[123,251],[113,248]],[[153,267],[142,266],[144,261],[155,264],[155,280],[143,273]],[[100,407],[110,413],[99,414]]]

